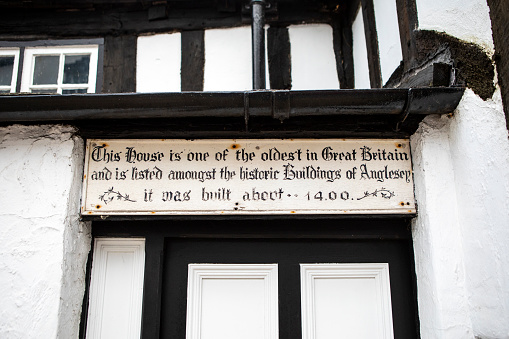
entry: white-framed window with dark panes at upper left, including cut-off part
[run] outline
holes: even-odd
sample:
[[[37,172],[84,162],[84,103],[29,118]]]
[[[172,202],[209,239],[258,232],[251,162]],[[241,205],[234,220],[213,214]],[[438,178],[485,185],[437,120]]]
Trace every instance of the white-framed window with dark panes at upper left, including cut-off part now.
[[[103,41],[81,43],[0,42],[0,94],[95,93]]]

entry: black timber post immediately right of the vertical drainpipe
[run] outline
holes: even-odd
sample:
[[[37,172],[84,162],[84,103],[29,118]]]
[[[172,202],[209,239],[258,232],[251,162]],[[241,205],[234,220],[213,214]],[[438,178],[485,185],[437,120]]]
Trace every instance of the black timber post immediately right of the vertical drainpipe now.
[[[287,27],[270,26],[267,30],[267,50],[271,89],[292,88],[290,36]]]

